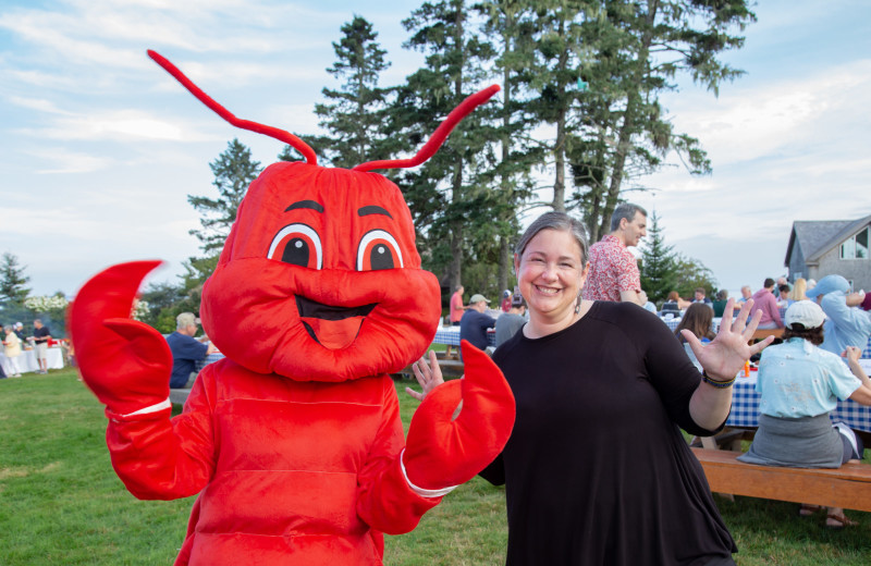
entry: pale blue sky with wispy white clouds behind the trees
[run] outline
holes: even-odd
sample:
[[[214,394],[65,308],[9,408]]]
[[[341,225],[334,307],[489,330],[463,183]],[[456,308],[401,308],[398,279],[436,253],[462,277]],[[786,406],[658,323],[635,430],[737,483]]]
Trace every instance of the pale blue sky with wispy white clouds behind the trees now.
[[[373,23],[397,84],[421,58],[400,22],[419,2],[7,0],[0,5],[0,253],[35,294],[73,295],[121,261],[197,255],[188,194],[213,196],[208,163],[233,137],[266,165],[281,144],[208,111],[145,54],[156,49],[240,118],[314,133],[331,42],[355,13]],[[713,174],[666,168],[627,195],[661,217],[666,243],[720,286],[785,273],[794,220],[871,213],[871,3],[766,1],[747,75],[719,98],[689,82],[663,104],[709,151]],[[596,85],[591,85],[594,88]],[[434,125],[433,125],[434,128]]]

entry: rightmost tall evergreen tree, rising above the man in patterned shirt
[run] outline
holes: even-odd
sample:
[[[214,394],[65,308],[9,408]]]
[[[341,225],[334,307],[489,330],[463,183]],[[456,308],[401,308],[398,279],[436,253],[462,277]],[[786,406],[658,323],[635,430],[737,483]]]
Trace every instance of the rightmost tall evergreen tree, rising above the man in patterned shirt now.
[[[575,204],[592,241],[608,231],[624,181],[662,167],[667,151],[677,151],[691,173],[710,172],[698,139],[673,131],[658,97],[676,90],[678,72],[714,94],[723,81],[740,76],[717,57],[739,48],[744,37],[734,32],[756,20],[747,0],[612,0],[601,7],[582,24],[581,37],[596,56],[584,61],[588,134],[574,171],[581,180]]]

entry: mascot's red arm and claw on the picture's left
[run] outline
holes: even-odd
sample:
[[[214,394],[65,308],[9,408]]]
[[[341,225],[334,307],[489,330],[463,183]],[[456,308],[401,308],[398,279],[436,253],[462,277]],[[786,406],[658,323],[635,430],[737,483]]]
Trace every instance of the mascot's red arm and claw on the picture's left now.
[[[210,443],[201,443],[208,440],[204,433],[187,443],[193,454],[181,450],[170,421],[169,346],[155,329],[130,319],[142,280],[159,264],[113,266],[90,279],[70,307],[79,372],[106,405],[112,466],[140,499],[197,493],[208,481],[211,453]],[[184,426],[192,428],[189,419]]]

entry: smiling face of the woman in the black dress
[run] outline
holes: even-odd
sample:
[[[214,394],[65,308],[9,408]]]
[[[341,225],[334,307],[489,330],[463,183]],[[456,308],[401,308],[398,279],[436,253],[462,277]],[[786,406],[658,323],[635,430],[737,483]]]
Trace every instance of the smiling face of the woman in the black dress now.
[[[571,232],[544,229],[536,234],[523,254],[514,257],[520,293],[530,316],[560,318],[574,312],[587,279],[580,246]]]

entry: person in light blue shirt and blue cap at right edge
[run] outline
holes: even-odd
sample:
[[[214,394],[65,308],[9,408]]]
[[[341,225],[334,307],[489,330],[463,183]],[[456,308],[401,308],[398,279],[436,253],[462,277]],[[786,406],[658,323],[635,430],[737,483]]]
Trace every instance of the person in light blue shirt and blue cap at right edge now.
[[[821,348],[841,354],[847,346],[859,349],[871,336],[871,316],[858,308],[864,293],[849,293],[850,284],[841,275],[826,275],[805,294],[817,299],[829,320],[825,321],[825,340]]]

